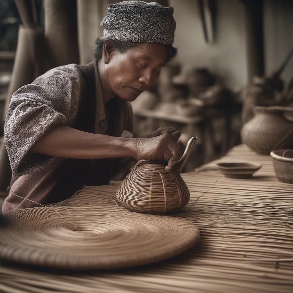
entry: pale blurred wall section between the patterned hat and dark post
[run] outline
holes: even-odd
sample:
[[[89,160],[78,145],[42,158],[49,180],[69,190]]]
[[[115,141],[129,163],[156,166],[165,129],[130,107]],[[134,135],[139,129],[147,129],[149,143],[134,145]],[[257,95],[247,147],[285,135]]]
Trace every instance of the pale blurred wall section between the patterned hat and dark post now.
[[[174,47],[185,72],[208,67],[224,77],[226,84],[242,88],[248,82],[244,7],[238,0],[218,0],[216,40],[205,42],[197,0],[169,0],[174,7]]]

